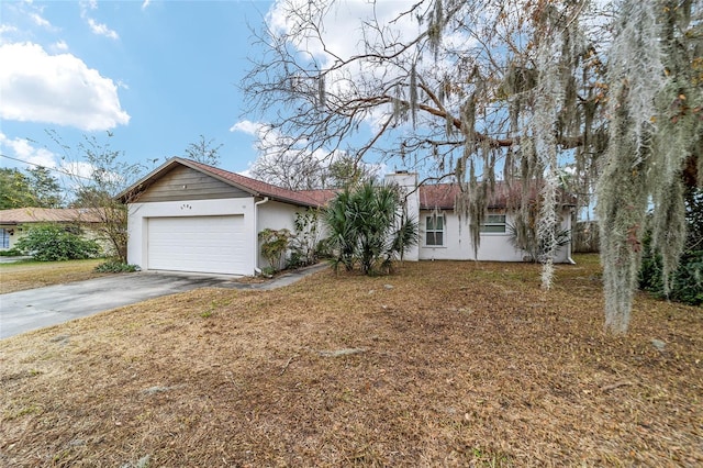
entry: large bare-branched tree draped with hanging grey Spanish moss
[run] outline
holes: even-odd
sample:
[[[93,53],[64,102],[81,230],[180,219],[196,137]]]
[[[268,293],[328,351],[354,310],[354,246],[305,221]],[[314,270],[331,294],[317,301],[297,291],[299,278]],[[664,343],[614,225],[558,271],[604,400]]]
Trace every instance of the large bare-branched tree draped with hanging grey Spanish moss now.
[[[624,333],[648,201],[670,271],[684,238],[687,161],[702,179],[701,0],[368,2],[359,41],[338,41],[328,25],[352,4],[276,3],[269,18],[281,21],[258,33],[244,80],[247,112],[271,119],[269,132],[301,156],[357,142],[358,160],[372,153],[454,175],[475,248],[503,178],[523,192],[518,214],[539,193],[537,231],[554,252],[567,160],[596,185],[605,326]],[[545,288],[553,275],[546,255]]]

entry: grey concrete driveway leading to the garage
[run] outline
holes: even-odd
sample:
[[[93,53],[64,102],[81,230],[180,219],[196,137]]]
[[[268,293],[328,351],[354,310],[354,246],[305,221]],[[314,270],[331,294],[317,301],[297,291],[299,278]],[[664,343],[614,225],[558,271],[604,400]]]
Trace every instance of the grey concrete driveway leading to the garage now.
[[[160,296],[235,285],[232,277],[143,271],[1,294],[0,339]]]

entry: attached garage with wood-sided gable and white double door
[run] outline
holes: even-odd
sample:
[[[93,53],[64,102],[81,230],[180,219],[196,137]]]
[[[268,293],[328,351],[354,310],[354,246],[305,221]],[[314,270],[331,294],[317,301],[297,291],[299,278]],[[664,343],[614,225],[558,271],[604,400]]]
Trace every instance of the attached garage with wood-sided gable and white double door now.
[[[294,229],[323,202],[190,159],[171,158],[119,197],[129,205],[127,261],[144,270],[254,275],[258,233]]]

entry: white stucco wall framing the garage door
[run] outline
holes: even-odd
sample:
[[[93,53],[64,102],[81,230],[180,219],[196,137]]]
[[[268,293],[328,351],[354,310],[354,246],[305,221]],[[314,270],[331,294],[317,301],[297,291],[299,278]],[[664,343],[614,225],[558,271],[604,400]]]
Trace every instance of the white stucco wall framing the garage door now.
[[[129,205],[127,220],[127,261],[148,269],[147,233],[149,218],[164,216],[222,216],[243,214],[245,223],[245,242],[250,245],[247,258],[247,270],[254,274],[257,261],[256,234],[254,229],[254,198],[231,198],[221,200],[185,200],[150,203],[132,203]]]

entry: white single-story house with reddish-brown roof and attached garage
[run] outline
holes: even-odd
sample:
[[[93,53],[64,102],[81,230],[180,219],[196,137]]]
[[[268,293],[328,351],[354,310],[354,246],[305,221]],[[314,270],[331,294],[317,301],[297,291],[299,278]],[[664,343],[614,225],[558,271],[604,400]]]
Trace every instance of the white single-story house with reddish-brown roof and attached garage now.
[[[420,245],[405,258],[473,259],[468,225],[454,213],[456,187],[417,189],[417,176],[406,172],[389,175],[387,180],[405,187],[409,212],[420,222]],[[129,193],[136,193],[129,200],[131,264],[143,270],[225,275],[253,275],[267,266],[257,234],[267,227],[294,231],[295,213],[324,207],[335,196],[333,190],[287,190],[179,157],[121,198],[126,201]],[[571,218],[563,219],[569,225]],[[505,207],[494,203],[483,226],[479,259],[523,260],[524,253],[509,242],[507,222]],[[558,261],[569,261],[569,255],[567,246]]]

